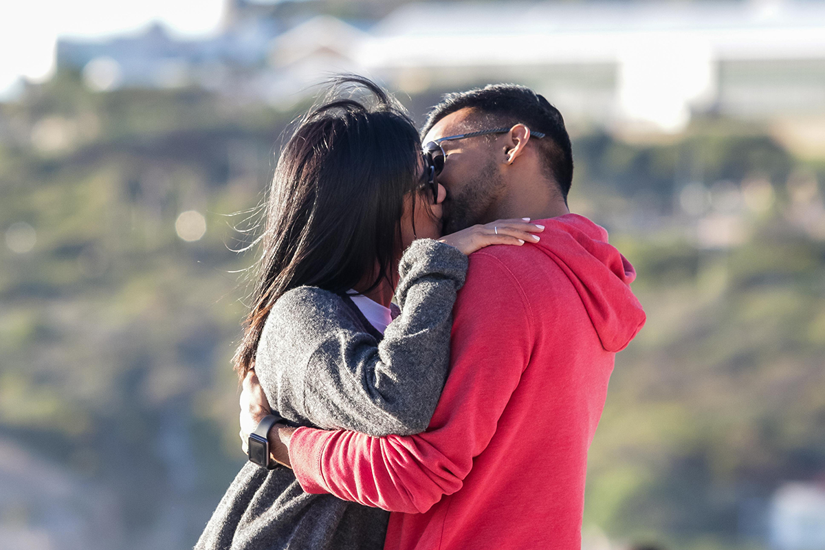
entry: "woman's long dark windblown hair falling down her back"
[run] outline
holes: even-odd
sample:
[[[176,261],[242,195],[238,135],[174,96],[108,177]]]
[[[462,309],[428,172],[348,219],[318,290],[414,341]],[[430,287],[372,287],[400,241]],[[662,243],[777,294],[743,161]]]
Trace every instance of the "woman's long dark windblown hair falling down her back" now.
[[[241,378],[272,305],[290,289],[343,293],[376,264],[370,289],[390,280],[404,199],[421,186],[421,145],[403,107],[365,78],[332,84],[285,144],[272,179],[252,311],[233,357]]]

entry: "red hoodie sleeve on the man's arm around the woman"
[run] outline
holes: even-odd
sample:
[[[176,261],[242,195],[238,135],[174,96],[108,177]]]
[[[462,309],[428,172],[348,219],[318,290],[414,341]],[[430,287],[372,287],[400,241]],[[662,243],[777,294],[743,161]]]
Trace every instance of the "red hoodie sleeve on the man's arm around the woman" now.
[[[417,513],[462,487],[530,361],[535,326],[516,276],[483,251],[470,257],[454,315],[450,376],[427,431],[299,428],[290,461],[304,491]]]

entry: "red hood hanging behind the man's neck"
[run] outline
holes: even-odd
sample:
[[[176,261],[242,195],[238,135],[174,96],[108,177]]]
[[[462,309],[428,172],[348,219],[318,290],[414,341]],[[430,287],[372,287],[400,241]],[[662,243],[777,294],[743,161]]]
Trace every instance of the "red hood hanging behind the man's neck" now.
[[[620,351],[644,325],[642,305],[630,290],[636,270],[615,247],[607,231],[578,214],[532,220],[544,225],[535,247],[568,276],[607,351]]]

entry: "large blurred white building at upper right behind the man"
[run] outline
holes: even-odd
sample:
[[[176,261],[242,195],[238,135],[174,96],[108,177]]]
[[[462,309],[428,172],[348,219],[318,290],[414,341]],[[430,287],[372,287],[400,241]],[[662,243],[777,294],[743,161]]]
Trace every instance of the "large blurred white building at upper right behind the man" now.
[[[666,131],[825,115],[825,2],[412,4],[356,60],[414,88],[524,82],[568,117]]]

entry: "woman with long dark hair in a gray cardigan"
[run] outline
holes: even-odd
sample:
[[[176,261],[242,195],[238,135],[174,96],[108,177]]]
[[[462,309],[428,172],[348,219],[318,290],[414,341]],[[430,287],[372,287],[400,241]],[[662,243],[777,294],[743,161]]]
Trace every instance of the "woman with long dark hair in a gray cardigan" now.
[[[333,93],[351,85],[370,105],[328,99],[281,154],[235,367],[243,378],[254,366],[271,407],[294,425],[413,434],[445,382],[466,255],[540,229],[510,220],[434,240],[446,191],[428,177],[413,123],[367,80],[342,78]],[[388,518],[306,494],[288,468],[247,463],[196,548],[377,549]]]

